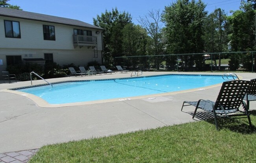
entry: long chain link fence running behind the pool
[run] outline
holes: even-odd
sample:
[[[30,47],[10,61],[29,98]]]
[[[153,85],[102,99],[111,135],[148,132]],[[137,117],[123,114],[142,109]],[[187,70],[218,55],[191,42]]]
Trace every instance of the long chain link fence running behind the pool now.
[[[115,63],[142,71],[256,71],[256,51],[115,57]]]

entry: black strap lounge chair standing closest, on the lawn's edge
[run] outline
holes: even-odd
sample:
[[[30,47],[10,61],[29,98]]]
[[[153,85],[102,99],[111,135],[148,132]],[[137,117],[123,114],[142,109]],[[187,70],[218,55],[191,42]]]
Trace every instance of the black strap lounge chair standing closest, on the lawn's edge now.
[[[205,110],[206,112],[210,112],[214,116],[215,126],[217,130],[219,130],[217,116],[227,118],[248,118],[249,125],[250,127],[252,127],[247,105],[245,101],[243,101],[249,84],[250,81],[246,80],[233,80],[223,82],[217,100],[215,102],[202,99],[199,101],[184,101],[182,109],[184,106],[195,106],[196,108],[192,118],[195,117],[198,108]],[[185,103],[188,103],[188,105],[184,105]],[[244,111],[239,110],[241,104],[243,105]],[[238,112],[239,114],[237,114]]]

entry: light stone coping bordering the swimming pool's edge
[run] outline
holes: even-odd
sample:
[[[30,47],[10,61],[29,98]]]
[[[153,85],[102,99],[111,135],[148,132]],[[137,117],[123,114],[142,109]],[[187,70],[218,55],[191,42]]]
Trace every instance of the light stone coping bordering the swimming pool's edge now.
[[[181,75],[181,76],[221,76],[219,74],[160,74],[160,75],[150,75],[150,76],[138,76],[138,77],[124,77],[124,78],[110,78],[110,79],[95,79],[95,80],[66,80],[62,82],[52,82],[53,84],[58,83],[67,83],[67,82],[81,82],[81,81],[102,81],[102,80],[116,80],[116,79],[130,79],[130,78],[145,78],[145,77],[152,77],[152,76],[169,76],[169,75]],[[243,77],[239,76],[239,79],[242,80]],[[17,87],[17,88],[11,88],[11,89],[3,89],[1,91],[3,92],[9,92],[13,94],[18,94],[21,96],[24,96],[36,103],[37,106],[43,107],[43,108],[59,108],[59,107],[70,107],[70,106],[80,106],[80,105],[89,105],[89,104],[97,104],[97,103],[108,103],[108,102],[115,102],[115,101],[125,101],[125,100],[135,100],[135,99],[143,99],[143,98],[154,98],[154,97],[160,97],[160,96],[167,96],[167,95],[174,95],[174,94],[180,94],[180,93],[187,93],[187,92],[194,92],[194,91],[200,91],[204,89],[210,89],[213,87],[221,86],[222,83],[210,85],[206,87],[198,87],[194,89],[187,89],[184,91],[174,91],[174,92],[166,92],[166,93],[160,93],[160,94],[150,94],[150,95],[143,95],[143,96],[132,96],[132,97],[126,97],[126,98],[113,98],[113,99],[107,99],[107,100],[95,100],[95,101],[84,101],[84,102],[75,102],[75,103],[64,103],[64,104],[50,104],[43,100],[42,98],[35,96],[33,94],[25,93],[16,91],[17,89],[25,89],[30,87],[39,87],[44,86],[48,84],[38,84],[38,85],[30,85],[25,87]]]

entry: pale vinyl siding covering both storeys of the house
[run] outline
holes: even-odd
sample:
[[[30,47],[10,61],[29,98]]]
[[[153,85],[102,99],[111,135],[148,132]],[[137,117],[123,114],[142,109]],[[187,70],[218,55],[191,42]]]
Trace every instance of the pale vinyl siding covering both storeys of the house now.
[[[21,38],[6,38],[4,20],[20,23]],[[52,25],[55,28],[55,41],[44,40],[43,25]],[[97,36],[97,53],[91,47],[83,46],[76,48],[73,44],[74,29],[92,31],[92,36]],[[99,31],[100,34],[96,34]],[[6,56],[21,55],[24,58],[44,58],[45,53],[52,53],[54,62],[59,65],[74,63],[75,65],[87,66],[88,62],[102,62],[102,30],[76,27],[72,25],[54,24],[19,18],[0,16],[0,72],[6,70]]]

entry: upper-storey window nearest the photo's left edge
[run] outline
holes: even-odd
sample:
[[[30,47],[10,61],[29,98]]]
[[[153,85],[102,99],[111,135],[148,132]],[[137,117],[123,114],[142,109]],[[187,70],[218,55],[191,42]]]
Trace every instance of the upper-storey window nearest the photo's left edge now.
[[[20,38],[20,22],[4,20],[4,27],[6,31],[6,37]]]

